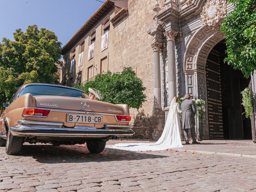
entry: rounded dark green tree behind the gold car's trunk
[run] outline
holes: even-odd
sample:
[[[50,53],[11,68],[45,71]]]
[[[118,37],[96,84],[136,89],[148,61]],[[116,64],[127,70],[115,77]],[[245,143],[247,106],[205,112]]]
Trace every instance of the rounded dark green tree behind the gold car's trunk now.
[[[84,92],[92,88],[98,92],[102,98],[100,100],[113,104],[128,104],[132,108],[140,108],[146,101],[143,93],[146,88],[142,85],[142,80],[136,77],[131,67],[124,68],[121,73],[98,74],[94,80],[86,84],[74,86]]]

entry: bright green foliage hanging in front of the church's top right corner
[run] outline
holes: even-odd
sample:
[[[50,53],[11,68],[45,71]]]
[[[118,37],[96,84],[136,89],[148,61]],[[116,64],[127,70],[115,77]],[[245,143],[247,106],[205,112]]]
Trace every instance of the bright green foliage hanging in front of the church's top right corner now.
[[[249,77],[256,70],[256,0],[229,0],[234,11],[228,14],[221,30],[226,36],[225,61]]]

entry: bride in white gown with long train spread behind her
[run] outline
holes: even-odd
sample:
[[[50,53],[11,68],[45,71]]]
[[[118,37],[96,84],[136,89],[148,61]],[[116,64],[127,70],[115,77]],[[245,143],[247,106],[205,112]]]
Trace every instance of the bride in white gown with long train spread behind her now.
[[[180,140],[180,116],[178,98],[174,97],[170,104],[168,118],[166,120],[163,133],[155,143],[118,143],[108,148],[130,150],[130,151],[157,151],[169,148],[183,147]]]

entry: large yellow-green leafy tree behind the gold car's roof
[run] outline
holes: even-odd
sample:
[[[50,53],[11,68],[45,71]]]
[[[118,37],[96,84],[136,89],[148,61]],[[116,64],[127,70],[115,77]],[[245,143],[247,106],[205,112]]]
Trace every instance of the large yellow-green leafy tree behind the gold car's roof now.
[[[14,41],[0,43],[0,102],[8,102],[18,87],[26,83],[58,83],[57,63],[61,42],[49,30],[36,25],[26,32],[17,29]],[[1,104],[2,106],[2,104]]]

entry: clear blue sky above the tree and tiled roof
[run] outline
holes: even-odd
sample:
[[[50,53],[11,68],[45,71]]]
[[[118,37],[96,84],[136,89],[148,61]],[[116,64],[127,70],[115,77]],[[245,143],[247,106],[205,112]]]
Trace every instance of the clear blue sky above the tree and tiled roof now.
[[[104,0],[101,0],[102,2]],[[96,0],[0,0],[0,42],[29,25],[53,31],[62,46],[101,6]]]

